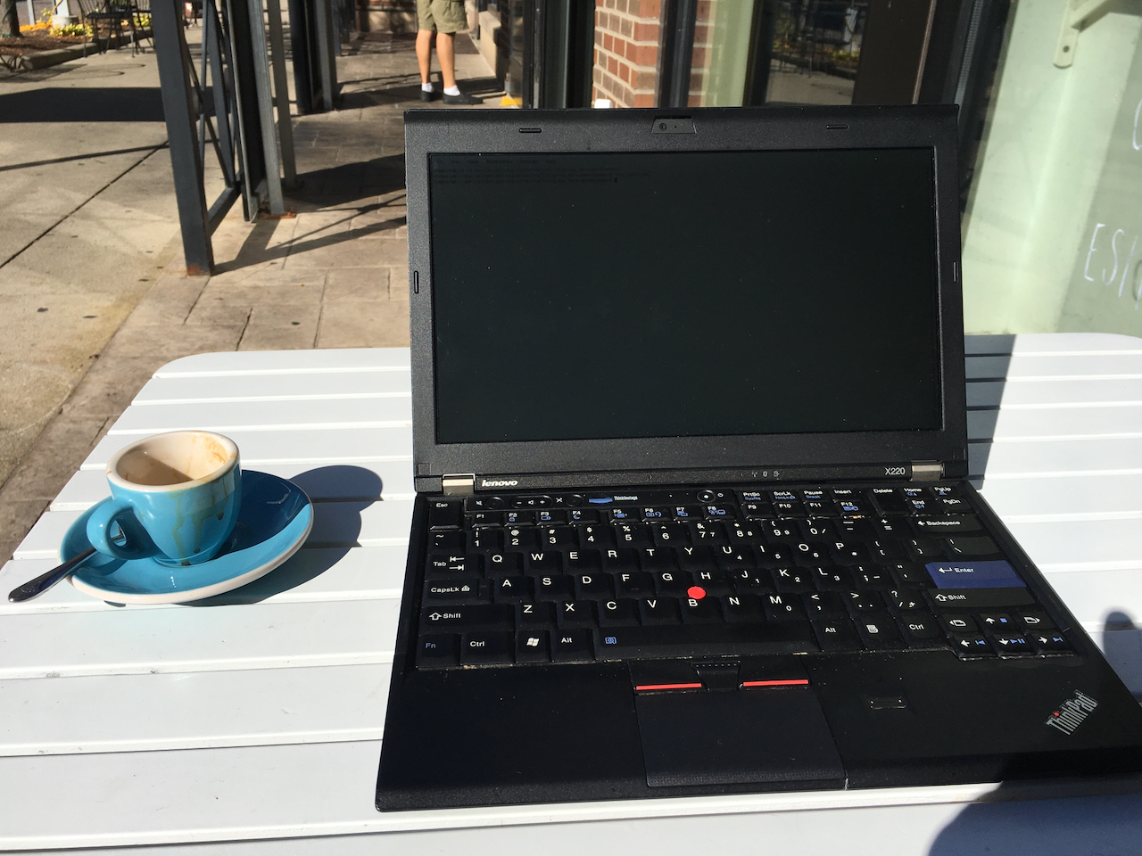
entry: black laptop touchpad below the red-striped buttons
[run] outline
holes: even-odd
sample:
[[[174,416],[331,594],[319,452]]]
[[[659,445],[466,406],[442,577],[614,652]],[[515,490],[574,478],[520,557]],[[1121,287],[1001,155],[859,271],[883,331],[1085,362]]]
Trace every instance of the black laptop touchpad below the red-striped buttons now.
[[[637,695],[646,784],[817,782],[845,770],[809,687]]]

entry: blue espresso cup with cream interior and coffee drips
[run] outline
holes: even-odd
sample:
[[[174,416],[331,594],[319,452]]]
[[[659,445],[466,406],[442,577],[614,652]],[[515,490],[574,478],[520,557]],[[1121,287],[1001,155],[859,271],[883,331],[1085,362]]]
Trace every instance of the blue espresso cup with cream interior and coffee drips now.
[[[212,431],[140,439],[107,462],[111,499],[87,522],[99,552],[179,567],[212,559],[238,522],[238,446]],[[116,527],[121,536],[116,536]]]

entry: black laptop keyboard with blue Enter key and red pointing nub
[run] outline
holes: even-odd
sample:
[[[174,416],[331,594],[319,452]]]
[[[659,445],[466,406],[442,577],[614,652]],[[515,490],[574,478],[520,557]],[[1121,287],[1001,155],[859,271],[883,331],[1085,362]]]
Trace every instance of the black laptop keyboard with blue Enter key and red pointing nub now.
[[[1071,654],[955,485],[437,498],[421,669]]]

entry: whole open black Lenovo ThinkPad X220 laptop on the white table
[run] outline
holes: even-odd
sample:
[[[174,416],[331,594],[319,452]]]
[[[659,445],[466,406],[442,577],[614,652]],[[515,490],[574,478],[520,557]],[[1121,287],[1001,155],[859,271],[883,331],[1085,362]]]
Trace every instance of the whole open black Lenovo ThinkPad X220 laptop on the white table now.
[[[381,810],[1127,774],[967,476],[955,107],[410,111]]]

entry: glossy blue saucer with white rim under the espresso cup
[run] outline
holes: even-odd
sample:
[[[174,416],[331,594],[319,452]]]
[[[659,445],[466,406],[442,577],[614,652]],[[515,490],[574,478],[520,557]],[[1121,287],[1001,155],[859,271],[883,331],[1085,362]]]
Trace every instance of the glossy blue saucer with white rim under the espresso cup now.
[[[106,502],[106,500],[104,500]],[[96,503],[64,535],[59,557],[69,559],[91,544],[87,519]],[[182,604],[231,591],[273,571],[297,552],[313,527],[313,506],[292,482],[268,473],[242,470],[242,506],[234,532],[209,562],[168,567],[154,559],[123,562],[102,552],[80,565],[72,584],[116,604]]]

